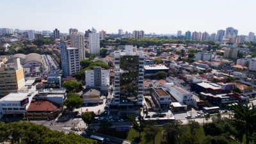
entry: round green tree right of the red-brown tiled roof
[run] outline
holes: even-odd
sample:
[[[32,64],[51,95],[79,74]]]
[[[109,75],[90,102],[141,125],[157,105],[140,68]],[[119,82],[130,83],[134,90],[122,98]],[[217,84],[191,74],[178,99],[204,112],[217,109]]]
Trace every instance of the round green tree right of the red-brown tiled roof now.
[[[65,105],[68,109],[72,110],[77,106],[81,106],[84,100],[76,93],[68,93],[68,99],[65,100]]]

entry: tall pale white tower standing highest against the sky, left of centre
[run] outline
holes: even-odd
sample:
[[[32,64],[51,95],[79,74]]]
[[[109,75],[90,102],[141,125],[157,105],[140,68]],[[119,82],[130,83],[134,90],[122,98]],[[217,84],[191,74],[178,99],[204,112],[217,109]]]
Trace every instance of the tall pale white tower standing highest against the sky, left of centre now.
[[[92,33],[89,33],[89,48],[90,54],[100,54],[100,35],[94,28]]]

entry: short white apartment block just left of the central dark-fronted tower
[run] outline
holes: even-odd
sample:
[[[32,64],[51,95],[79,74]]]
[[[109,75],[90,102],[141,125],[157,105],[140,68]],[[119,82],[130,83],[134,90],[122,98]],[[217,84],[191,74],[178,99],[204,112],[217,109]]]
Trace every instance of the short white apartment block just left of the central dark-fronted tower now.
[[[94,67],[85,71],[86,86],[109,86],[109,70]]]

